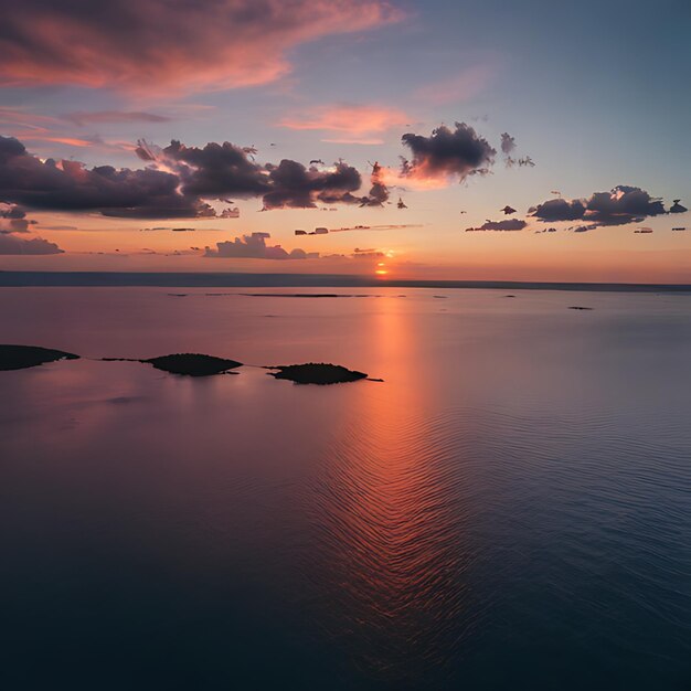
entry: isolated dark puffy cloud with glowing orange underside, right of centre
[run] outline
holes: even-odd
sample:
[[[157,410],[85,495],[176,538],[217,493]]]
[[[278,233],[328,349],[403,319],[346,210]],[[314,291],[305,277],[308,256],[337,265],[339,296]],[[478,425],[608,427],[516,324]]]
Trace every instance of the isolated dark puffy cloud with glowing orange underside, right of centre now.
[[[429,137],[408,132],[402,137],[412,152],[403,159],[402,176],[411,179],[445,179],[463,181],[468,176],[485,174],[497,151],[472,127],[456,123],[454,130],[445,125]]]

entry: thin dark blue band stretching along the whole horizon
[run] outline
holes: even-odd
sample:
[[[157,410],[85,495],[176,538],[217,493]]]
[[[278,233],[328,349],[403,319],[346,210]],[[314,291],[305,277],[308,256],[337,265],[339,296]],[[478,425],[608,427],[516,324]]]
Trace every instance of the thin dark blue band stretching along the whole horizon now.
[[[523,290],[598,290],[691,293],[691,284],[528,283],[517,280],[405,280],[339,274],[2,272],[0,287],[150,286],[162,288],[497,288]]]

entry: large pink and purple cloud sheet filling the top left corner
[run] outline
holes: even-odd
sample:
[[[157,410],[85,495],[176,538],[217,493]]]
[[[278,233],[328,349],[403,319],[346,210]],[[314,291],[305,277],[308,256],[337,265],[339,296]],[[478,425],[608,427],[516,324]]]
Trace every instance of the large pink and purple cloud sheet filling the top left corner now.
[[[396,22],[383,0],[1,0],[0,84],[180,94],[266,84],[286,54]]]

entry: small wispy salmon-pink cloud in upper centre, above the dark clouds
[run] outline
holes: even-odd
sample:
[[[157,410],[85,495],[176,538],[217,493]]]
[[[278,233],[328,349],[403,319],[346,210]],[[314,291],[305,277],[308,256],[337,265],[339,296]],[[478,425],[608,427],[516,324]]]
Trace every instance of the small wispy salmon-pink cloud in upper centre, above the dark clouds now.
[[[321,106],[312,113],[287,116],[279,125],[289,129],[323,130],[362,137],[402,127],[406,123],[410,123],[410,118],[397,108],[332,105]]]

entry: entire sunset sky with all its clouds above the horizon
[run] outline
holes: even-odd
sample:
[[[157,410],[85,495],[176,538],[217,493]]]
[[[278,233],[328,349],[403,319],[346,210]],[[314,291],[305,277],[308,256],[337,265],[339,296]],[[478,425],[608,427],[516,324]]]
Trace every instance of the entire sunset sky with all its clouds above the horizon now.
[[[685,0],[0,10],[0,269],[691,283]]]

